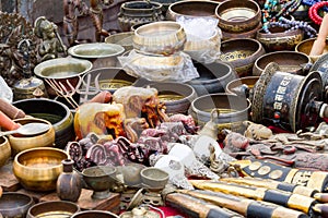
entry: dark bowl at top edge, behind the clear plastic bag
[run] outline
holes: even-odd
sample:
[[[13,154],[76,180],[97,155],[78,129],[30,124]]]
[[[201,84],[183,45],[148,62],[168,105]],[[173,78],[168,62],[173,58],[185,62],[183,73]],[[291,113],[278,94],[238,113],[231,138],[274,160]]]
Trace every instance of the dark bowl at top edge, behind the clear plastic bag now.
[[[166,20],[176,21],[178,16],[211,16],[215,17],[216,1],[184,0],[172,3],[166,11]]]

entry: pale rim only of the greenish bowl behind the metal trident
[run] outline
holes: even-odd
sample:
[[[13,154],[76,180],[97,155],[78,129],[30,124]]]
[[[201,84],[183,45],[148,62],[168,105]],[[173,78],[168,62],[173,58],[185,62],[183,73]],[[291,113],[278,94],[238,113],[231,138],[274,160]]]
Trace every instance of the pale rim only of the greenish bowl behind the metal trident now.
[[[73,75],[66,75],[66,76],[45,76],[42,72],[44,69],[47,69],[49,66],[54,66],[54,65],[62,65],[65,63],[70,63],[70,64],[83,64],[85,66],[85,69],[82,72],[79,72],[77,74]],[[50,60],[46,60],[43,61],[40,63],[38,63],[35,68],[34,68],[34,73],[36,76],[42,77],[42,78],[55,78],[55,80],[62,80],[62,78],[72,78],[75,76],[80,76],[83,75],[85,72],[90,71],[93,68],[93,64],[91,61],[89,60],[83,60],[83,59],[78,59],[74,57],[66,57],[66,58],[56,58],[56,59],[50,59]]]

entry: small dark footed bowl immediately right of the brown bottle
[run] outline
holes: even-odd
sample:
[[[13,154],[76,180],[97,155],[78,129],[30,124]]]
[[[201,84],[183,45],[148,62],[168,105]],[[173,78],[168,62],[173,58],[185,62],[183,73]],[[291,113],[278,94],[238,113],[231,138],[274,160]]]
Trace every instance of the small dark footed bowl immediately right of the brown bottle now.
[[[112,166],[94,166],[82,171],[84,182],[93,190],[92,198],[104,199],[110,195],[109,190],[116,182],[116,171]]]

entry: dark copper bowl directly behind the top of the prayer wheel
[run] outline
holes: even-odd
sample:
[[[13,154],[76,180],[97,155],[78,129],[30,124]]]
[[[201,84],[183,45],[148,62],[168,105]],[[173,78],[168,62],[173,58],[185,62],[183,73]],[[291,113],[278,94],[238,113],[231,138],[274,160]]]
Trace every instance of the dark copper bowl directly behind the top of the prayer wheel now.
[[[280,70],[283,72],[291,72],[303,75],[306,73],[307,68],[311,66],[311,58],[305,53],[296,51],[274,51],[259,57],[253,68],[253,75],[261,75],[265,68],[270,63],[276,62],[279,64]]]

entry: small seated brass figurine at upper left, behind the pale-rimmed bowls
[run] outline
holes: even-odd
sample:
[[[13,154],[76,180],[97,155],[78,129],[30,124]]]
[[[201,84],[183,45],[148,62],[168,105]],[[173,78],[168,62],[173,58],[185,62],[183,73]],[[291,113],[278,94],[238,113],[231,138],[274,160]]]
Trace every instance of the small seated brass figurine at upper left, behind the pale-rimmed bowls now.
[[[60,52],[67,53],[67,48],[62,44],[56,24],[49,22],[45,16],[39,16],[35,20],[34,28],[35,35],[43,40],[38,47],[40,61],[58,58]]]

